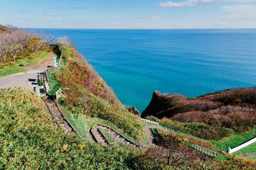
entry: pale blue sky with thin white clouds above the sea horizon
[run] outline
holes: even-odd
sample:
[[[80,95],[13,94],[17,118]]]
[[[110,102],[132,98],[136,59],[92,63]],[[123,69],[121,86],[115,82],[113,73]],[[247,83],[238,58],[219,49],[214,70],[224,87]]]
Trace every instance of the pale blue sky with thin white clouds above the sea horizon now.
[[[0,0],[0,24],[35,28],[256,28],[256,0]]]

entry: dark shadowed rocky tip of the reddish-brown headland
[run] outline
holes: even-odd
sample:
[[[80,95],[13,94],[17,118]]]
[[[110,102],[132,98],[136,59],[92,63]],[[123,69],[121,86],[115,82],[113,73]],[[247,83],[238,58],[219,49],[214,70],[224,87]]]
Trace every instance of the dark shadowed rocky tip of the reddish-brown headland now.
[[[180,94],[161,94],[161,92],[157,92],[157,90],[155,90],[147,108],[141,113],[141,117],[145,118],[150,115],[159,118],[166,116],[169,117],[168,108],[173,108],[174,106],[182,104],[186,99],[187,97]],[[157,115],[157,113],[161,114]]]

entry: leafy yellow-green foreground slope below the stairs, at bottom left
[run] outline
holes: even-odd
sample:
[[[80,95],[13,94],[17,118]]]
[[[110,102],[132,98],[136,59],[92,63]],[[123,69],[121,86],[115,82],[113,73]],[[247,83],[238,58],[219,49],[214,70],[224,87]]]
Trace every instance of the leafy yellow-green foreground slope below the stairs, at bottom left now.
[[[65,134],[34,92],[0,89],[0,169],[126,169],[138,155]]]

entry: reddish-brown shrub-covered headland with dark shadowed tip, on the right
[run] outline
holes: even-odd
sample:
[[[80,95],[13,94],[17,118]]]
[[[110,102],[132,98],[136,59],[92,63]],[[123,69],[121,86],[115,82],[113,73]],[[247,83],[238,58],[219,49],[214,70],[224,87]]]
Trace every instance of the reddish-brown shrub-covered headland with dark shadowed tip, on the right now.
[[[205,129],[209,132],[205,134],[205,139],[220,139],[228,136],[230,129],[245,132],[255,127],[256,87],[225,89],[193,98],[155,91],[146,110],[141,114],[141,117],[148,116],[165,117],[163,120],[166,124],[172,124],[172,127],[179,124],[178,129],[191,126],[186,131],[191,131],[196,126],[196,131]],[[196,124],[198,122],[200,124]],[[196,131],[193,134],[201,136],[202,133],[197,134]]]

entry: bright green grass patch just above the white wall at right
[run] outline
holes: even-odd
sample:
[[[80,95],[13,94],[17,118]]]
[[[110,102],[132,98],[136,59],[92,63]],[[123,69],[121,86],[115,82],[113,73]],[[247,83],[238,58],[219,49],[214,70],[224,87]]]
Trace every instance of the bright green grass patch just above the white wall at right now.
[[[212,141],[212,143],[218,148],[221,148],[226,151],[228,150],[226,145],[230,146],[230,148],[234,148],[238,145],[241,145],[245,141],[255,138],[255,136],[256,129],[251,129],[250,131],[244,133],[232,132],[230,136],[223,138],[219,141]]]

